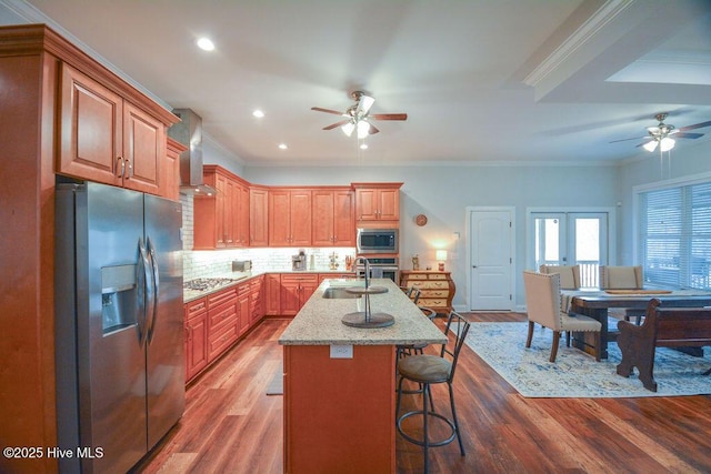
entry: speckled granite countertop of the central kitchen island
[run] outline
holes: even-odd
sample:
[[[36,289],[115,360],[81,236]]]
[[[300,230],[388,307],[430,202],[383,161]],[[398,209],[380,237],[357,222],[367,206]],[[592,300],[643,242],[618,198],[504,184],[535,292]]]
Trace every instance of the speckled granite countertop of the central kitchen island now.
[[[447,337],[418,306],[389,279],[373,279],[371,286],[385,286],[387,293],[370,295],[373,313],[394,316],[388,327],[360,329],[341,322],[344,314],[363,311],[364,296],[359,299],[324,299],[331,285],[348,286],[344,280],[326,280],[307,301],[299,314],[279,337],[282,345],[393,345],[442,344]]]

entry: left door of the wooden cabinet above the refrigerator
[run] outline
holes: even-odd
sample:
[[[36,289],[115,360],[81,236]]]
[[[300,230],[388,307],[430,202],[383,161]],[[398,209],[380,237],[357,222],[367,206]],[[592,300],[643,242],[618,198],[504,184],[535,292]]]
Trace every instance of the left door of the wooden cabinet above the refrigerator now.
[[[63,64],[59,172],[120,185],[123,100]]]

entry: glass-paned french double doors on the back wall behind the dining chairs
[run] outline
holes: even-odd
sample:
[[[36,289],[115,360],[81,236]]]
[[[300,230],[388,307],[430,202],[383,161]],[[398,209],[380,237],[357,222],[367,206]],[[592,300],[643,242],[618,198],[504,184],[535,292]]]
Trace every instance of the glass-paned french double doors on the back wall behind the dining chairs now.
[[[581,286],[599,286],[608,264],[608,212],[531,212],[533,268],[580,265]]]

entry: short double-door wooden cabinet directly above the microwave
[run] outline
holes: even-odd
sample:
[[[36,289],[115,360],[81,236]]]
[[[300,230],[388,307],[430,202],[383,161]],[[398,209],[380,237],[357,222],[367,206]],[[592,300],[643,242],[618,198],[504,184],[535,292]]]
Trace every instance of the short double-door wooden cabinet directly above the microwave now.
[[[353,183],[357,221],[399,221],[402,183]]]

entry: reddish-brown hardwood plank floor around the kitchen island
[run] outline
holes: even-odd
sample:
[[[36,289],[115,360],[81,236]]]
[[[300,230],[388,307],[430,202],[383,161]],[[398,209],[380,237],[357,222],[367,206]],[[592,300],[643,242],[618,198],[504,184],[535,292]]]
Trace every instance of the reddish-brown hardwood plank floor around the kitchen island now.
[[[525,320],[513,313],[467,317]],[[182,420],[136,472],[282,472],[282,397],[266,391],[288,323],[264,321],[191,385]],[[469,347],[454,385],[467,455],[457,442],[431,448],[430,472],[711,472],[711,396],[524,399]],[[445,387],[434,386],[433,394],[444,410]],[[404,410],[415,396],[405,399]],[[398,473],[422,472],[421,448],[398,436],[397,464]]]

